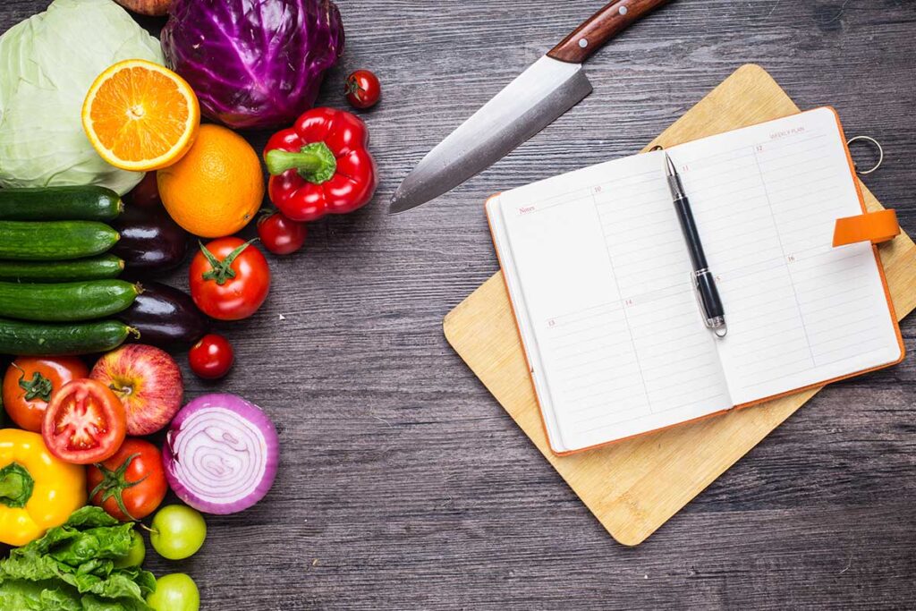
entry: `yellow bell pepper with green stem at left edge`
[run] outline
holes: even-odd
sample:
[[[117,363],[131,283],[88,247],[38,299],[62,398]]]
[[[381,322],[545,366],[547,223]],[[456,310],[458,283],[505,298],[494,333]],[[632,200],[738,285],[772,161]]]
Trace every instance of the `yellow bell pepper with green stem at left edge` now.
[[[20,546],[86,504],[86,470],[49,453],[41,435],[0,429],[0,543]]]

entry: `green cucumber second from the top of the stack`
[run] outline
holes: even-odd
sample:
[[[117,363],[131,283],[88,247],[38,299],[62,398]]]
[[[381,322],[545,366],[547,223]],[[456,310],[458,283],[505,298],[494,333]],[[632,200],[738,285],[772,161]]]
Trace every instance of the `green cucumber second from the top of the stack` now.
[[[120,237],[95,221],[0,221],[0,259],[57,261],[101,255]]]

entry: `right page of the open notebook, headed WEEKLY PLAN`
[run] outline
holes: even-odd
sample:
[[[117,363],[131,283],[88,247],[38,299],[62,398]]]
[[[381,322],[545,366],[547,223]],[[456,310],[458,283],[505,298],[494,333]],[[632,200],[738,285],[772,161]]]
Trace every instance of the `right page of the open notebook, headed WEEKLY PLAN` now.
[[[831,109],[669,152],[718,278],[736,404],[900,358],[871,245],[831,245],[834,221],[862,213]]]

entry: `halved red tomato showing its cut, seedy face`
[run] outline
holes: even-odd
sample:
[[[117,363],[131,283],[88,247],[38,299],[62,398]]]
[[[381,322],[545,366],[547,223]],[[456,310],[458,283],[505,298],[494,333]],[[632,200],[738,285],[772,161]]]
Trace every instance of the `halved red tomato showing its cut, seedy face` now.
[[[111,457],[127,434],[121,400],[102,382],[72,380],[51,396],[41,437],[50,453],[72,464],[99,463]]]

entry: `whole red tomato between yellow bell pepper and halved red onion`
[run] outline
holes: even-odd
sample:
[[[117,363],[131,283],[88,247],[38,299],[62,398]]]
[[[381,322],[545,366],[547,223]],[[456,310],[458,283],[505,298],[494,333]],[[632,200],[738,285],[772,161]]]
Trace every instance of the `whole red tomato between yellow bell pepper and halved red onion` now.
[[[134,437],[104,463],[89,467],[86,484],[93,505],[122,522],[146,518],[169,492],[162,453]]]

